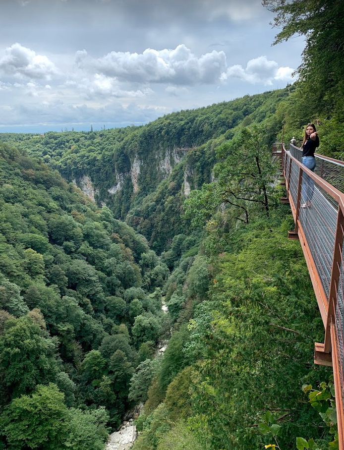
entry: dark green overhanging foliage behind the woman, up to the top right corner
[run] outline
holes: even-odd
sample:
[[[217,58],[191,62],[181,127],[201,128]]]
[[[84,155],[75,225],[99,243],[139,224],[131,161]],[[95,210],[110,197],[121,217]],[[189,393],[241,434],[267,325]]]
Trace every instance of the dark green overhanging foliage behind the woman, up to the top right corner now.
[[[283,106],[286,133],[301,136],[305,124],[320,124],[319,152],[342,157],[344,138],[337,130],[343,126],[343,2],[305,0],[285,2],[264,0],[274,14],[274,25],[281,31],[275,44],[294,35],[305,36],[302,63],[297,68],[298,81]]]

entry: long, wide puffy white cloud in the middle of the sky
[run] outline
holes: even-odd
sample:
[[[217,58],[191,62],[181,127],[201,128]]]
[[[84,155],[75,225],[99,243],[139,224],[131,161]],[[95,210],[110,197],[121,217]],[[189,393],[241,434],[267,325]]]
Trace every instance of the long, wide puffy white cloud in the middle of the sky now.
[[[197,57],[184,44],[174,50],[146,49],[142,54],[111,52],[96,59],[83,50],[77,52],[75,61],[80,69],[141,83],[210,84],[218,82],[226,70],[223,51]]]

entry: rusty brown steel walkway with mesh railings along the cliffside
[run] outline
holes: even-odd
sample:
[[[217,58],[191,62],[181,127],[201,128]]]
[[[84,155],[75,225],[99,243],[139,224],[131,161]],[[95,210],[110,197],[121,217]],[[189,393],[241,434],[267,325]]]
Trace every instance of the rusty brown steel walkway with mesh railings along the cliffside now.
[[[280,155],[287,197],[324,323],[324,343],[315,343],[314,362],[333,367],[339,448],[344,450],[344,162],[315,155],[315,172],[301,163],[302,152],[274,144]]]

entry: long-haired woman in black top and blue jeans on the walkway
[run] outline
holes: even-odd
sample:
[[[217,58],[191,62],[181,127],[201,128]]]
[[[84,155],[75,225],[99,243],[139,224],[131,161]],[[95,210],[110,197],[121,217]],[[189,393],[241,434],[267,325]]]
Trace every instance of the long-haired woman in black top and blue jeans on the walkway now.
[[[314,153],[315,149],[319,147],[319,144],[318,132],[315,129],[314,123],[308,123],[302,142],[302,164],[307,169],[312,170],[312,172],[314,172],[316,165]],[[302,178],[301,199],[303,199],[304,203],[302,203],[301,208],[307,208],[310,206],[313,197],[314,182],[305,173],[303,173]]]

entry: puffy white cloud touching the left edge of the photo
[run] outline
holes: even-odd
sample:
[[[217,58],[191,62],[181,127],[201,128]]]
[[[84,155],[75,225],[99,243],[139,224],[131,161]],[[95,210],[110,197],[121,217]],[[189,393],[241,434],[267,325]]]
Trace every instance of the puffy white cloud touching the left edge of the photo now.
[[[0,59],[0,71],[5,75],[23,76],[31,79],[50,80],[57,70],[47,56],[16,43],[5,50],[5,56]]]

